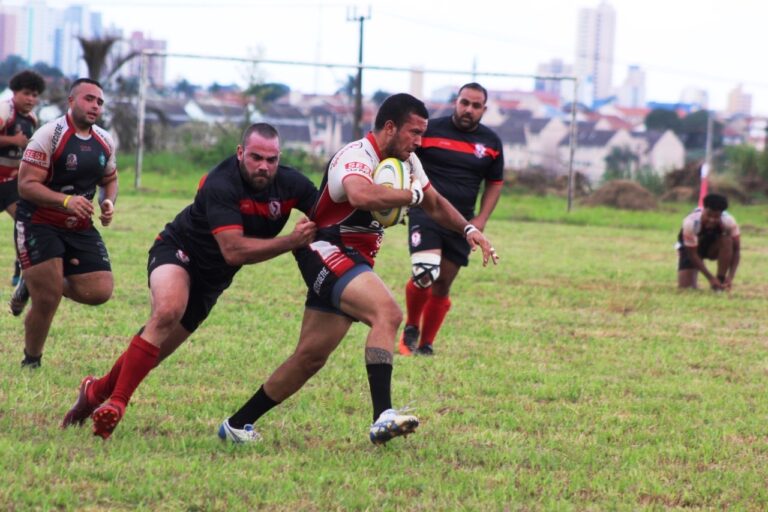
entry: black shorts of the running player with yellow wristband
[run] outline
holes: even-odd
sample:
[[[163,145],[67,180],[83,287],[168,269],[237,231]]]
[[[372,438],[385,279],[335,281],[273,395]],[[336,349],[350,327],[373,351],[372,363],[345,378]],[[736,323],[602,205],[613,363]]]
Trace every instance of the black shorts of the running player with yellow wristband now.
[[[109,253],[96,228],[82,231],[16,221],[16,255],[26,269],[53,258],[61,258],[64,275],[112,271]]]

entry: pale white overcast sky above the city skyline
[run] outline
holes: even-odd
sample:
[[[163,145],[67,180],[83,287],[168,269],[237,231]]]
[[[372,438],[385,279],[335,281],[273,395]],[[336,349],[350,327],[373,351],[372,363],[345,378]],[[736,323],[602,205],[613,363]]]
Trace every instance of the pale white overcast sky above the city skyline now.
[[[10,3],[6,1],[6,3]],[[469,81],[490,89],[531,89],[530,75],[553,58],[573,64],[578,11],[599,0],[48,0],[52,7],[89,4],[106,25],[165,39],[172,53],[354,65],[361,15],[366,65],[425,70],[424,94]],[[613,83],[627,67],[646,73],[646,99],[675,102],[686,87],[709,93],[723,109],[742,84],[753,113],[768,115],[763,56],[768,4],[761,0],[612,0],[616,10]],[[355,10],[356,9],[356,10]],[[448,73],[458,72],[458,73]],[[240,83],[249,77],[302,92],[334,92],[354,68],[256,67],[243,62],[170,58],[167,79]],[[503,76],[502,76],[503,75]],[[363,90],[410,89],[405,71],[366,71]]]

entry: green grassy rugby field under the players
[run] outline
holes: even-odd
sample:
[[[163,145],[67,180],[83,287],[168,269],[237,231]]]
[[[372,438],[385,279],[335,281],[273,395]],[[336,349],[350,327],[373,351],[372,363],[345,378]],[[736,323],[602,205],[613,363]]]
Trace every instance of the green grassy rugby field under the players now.
[[[296,342],[304,288],[287,255],[238,275],[109,441],[59,430],[80,379],[146,320],[146,250],[202,172],[147,166],[141,194],[122,175],[103,230],[113,300],[63,302],[39,371],[19,369],[22,323],[0,316],[0,509],[768,509],[765,206],[731,210],[734,291],[681,293],[673,243],[689,206],[566,214],[562,198],[504,195],[487,229],[501,264],[475,255],[462,272],[436,357],[395,360],[396,405],[422,425],[383,448],[367,439],[360,326],[260,421],[262,443],[215,436]],[[401,304],[409,267],[406,230],[391,228],[377,270]]]

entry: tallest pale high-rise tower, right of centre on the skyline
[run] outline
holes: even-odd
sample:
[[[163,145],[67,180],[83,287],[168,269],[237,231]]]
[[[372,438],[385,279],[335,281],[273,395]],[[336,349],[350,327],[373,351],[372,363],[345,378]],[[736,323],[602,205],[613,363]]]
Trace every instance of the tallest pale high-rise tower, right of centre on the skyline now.
[[[612,93],[615,29],[616,11],[608,2],[579,11],[575,68],[580,82],[587,85],[581,99],[588,104]]]

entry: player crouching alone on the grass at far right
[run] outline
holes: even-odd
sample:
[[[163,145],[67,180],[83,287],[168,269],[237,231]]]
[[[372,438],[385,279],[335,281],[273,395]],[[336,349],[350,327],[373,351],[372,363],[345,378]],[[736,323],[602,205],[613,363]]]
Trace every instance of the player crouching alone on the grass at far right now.
[[[719,194],[704,198],[704,208],[697,208],[685,219],[677,235],[677,286],[697,288],[699,272],[712,290],[730,290],[741,259],[739,225],[728,214],[728,199]],[[707,269],[704,260],[717,261],[717,275]]]

